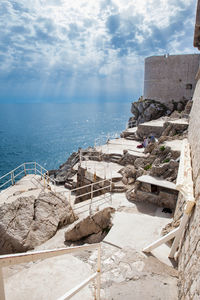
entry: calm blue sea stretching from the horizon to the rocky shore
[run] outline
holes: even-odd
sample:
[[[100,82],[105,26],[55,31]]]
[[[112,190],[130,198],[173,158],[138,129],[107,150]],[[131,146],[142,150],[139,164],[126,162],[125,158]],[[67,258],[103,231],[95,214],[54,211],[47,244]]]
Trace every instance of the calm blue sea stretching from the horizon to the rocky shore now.
[[[0,177],[23,162],[58,168],[125,129],[131,103],[0,104]]]

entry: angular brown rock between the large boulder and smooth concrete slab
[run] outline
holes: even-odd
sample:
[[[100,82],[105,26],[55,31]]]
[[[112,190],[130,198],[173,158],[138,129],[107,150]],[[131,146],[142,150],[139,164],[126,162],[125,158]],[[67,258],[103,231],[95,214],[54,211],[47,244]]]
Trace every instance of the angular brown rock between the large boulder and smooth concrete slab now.
[[[102,232],[103,229],[111,226],[111,214],[114,211],[114,208],[106,207],[91,217],[88,216],[82,220],[78,220],[67,228],[65,240],[74,242],[91,234]]]

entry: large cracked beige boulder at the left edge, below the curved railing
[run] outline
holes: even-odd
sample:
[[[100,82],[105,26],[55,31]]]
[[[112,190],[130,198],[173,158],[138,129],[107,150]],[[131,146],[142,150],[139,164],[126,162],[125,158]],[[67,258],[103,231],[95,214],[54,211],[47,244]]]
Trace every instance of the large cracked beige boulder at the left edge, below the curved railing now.
[[[3,204],[0,206],[0,253],[33,249],[74,220],[69,204],[52,192]]]

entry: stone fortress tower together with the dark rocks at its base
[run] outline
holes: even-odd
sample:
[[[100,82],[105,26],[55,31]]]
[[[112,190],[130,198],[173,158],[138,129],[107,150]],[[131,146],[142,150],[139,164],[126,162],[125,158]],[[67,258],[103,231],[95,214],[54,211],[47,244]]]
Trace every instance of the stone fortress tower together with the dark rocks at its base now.
[[[200,54],[150,56],[145,59],[144,92],[132,103],[128,126],[191,108]]]

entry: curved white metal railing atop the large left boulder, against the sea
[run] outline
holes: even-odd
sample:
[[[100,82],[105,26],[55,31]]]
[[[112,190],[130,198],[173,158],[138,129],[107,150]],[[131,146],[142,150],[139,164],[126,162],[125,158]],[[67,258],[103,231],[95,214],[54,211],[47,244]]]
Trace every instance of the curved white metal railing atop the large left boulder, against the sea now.
[[[17,168],[0,177],[0,190],[3,187],[15,185],[17,180],[20,180],[27,174],[40,175],[41,179],[44,179],[44,185],[46,183],[48,184],[49,182],[51,182],[54,185],[56,184],[56,180],[52,179],[49,176],[48,170],[46,170],[40,164],[38,164],[37,162],[25,162]]]

